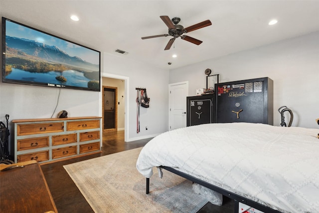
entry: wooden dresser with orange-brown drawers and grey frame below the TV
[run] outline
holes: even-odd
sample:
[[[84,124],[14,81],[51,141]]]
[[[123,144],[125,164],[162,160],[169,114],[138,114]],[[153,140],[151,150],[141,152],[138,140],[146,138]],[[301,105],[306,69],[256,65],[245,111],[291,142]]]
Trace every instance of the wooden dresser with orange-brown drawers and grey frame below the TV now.
[[[101,117],[12,120],[14,162],[50,162],[101,151]]]

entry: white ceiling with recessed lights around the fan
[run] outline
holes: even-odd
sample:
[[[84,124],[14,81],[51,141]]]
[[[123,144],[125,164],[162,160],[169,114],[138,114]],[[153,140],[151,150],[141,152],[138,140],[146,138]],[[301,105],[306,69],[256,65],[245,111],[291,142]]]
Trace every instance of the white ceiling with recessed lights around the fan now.
[[[319,31],[319,0],[0,0],[0,12],[104,54],[163,69]],[[80,20],[71,20],[72,14]],[[212,25],[186,33],[200,45],[176,38],[164,50],[171,36],[141,39],[168,33],[160,15],[180,17],[184,27],[207,19]],[[268,25],[274,18],[278,23]]]

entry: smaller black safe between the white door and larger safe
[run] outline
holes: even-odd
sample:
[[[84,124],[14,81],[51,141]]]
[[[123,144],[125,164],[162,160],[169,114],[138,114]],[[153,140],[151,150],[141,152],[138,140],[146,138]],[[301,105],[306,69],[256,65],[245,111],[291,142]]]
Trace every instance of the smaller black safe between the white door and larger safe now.
[[[186,97],[186,100],[187,100],[186,126],[213,123],[214,121],[213,100],[214,99],[215,99],[214,96],[211,94]]]

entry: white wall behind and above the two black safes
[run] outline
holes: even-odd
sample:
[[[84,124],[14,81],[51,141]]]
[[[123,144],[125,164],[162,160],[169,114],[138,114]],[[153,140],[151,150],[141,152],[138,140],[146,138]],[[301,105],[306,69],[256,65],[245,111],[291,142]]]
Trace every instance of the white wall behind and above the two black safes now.
[[[285,105],[294,113],[292,126],[318,129],[319,32],[171,70],[169,83],[188,80],[189,95],[196,95],[197,88],[206,87],[206,68],[220,74],[219,82],[270,77],[274,125],[280,126],[278,108]]]

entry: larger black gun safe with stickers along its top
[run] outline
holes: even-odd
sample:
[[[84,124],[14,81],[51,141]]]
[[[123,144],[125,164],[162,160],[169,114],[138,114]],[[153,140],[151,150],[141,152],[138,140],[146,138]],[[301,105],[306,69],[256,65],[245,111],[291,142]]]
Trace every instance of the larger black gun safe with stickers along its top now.
[[[216,123],[273,125],[273,80],[256,78],[215,84]]]

